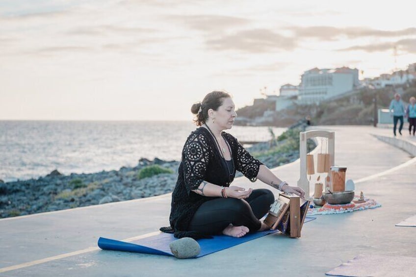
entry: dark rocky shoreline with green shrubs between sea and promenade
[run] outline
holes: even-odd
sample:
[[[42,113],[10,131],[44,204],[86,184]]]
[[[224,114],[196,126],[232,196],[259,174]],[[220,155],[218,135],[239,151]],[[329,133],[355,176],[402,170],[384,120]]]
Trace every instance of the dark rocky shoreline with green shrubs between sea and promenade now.
[[[305,127],[304,124],[292,126],[275,140],[256,144],[248,151],[269,168],[292,162],[299,158],[298,134]],[[294,147],[287,147],[288,144]],[[282,146],[281,150],[279,146]],[[270,151],[271,149],[278,150]],[[64,176],[55,170],[38,179],[0,182],[0,218],[170,193],[175,187],[179,164],[179,161],[141,158],[137,166],[122,167],[118,171]],[[171,173],[141,178],[140,171],[150,166]],[[236,177],[238,176],[242,175],[237,172]]]

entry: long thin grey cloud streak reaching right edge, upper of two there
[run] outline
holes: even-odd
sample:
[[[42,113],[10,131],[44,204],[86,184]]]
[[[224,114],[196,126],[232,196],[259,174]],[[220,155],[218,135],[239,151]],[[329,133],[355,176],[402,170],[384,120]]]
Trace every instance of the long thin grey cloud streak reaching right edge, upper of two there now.
[[[286,29],[291,30],[295,36],[310,37],[320,40],[336,40],[341,36],[346,36],[350,39],[362,37],[400,37],[407,35],[416,35],[416,28],[406,28],[396,31],[377,30],[367,27],[347,27],[337,28],[332,26],[311,26],[300,27],[291,26]]]

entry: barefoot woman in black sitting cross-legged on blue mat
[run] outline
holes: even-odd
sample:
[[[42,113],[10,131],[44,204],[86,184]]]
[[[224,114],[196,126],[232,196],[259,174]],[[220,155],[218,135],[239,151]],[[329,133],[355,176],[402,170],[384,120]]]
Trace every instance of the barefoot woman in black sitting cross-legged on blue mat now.
[[[231,129],[235,105],[222,91],[208,93],[192,105],[199,126],[188,136],[182,150],[178,180],[172,193],[170,227],[175,237],[201,238],[224,234],[242,237],[248,232],[267,230],[260,221],[274,202],[268,189],[248,189],[232,185],[239,171],[250,181],[256,179],[286,193],[304,197],[299,187],[289,186],[245,150],[224,130]]]

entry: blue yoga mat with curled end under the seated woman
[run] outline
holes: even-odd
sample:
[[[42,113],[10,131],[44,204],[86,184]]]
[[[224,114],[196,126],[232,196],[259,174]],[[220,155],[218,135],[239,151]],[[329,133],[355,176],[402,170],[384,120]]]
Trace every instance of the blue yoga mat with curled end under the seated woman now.
[[[312,221],[316,217],[305,218],[305,223]],[[279,230],[267,230],[263,232],[249,233],[241,238],[234,238],[225,235],[213,236],[212,239],[199,239],[198,243],[201,247],[201,252],[198,257],[208,255],[213,252],[218,252],[235,245],[242,244],[244,242],[260,238],[262,236],[278,232]],[[170,252],[169,244],[176,240],[173,234],[160,233],[154,236],[147,238],[139,239],[134,241],[134,243],[107,239],[100,237],[98,239],[98,247],[104,250],[115,250],[115,251],[128,251],[128,252],[137,252],[145,254],[156,254],[156,255],[166,255],[173,256]]]

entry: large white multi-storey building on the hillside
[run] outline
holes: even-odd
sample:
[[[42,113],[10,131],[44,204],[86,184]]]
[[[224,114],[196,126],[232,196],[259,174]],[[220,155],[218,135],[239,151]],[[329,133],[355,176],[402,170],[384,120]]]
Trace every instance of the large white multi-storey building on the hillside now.
[[[352,91],[359,85],[358,69],[313,68],[305,71],[301,77],[298,103],[319,103],[324,99]]]

